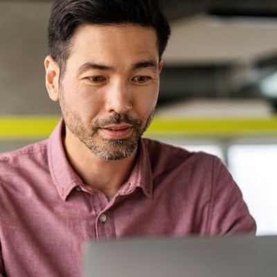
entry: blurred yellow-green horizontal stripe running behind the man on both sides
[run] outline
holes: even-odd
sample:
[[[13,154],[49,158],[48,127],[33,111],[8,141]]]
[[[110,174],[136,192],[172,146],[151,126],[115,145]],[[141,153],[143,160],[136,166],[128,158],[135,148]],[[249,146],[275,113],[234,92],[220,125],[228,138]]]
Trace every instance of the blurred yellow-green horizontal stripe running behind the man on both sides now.
[[[46,139],[60,116],[0,116],[0,139]],[[269,118],[164,118],[155,116],[145,136],[277,136]]]

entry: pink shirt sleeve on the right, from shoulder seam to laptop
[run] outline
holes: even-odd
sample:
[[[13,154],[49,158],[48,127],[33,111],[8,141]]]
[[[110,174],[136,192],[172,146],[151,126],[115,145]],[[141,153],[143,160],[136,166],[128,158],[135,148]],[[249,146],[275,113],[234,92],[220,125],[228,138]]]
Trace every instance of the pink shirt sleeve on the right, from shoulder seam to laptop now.
[[[249,213],[240,188],[217,158],[213,159],[211,206],[206,233],[256,233],[256,222]]]

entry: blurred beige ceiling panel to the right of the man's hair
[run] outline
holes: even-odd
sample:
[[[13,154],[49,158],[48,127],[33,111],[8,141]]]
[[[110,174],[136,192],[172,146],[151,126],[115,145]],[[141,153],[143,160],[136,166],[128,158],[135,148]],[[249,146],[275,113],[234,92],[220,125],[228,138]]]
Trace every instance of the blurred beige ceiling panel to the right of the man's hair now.
[[[195,15],[172,22],[168,64],[252,64],[277,54],[277,17]]]

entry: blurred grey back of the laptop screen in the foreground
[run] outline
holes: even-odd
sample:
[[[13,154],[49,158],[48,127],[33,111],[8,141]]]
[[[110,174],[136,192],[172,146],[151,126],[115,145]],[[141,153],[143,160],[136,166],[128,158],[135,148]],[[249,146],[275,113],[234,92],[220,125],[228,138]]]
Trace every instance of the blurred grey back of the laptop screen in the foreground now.
[[[84,277],[277,277],[277,236],[92,241]]]

